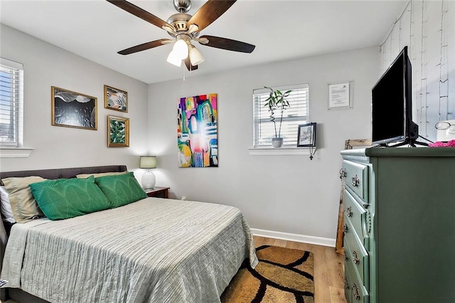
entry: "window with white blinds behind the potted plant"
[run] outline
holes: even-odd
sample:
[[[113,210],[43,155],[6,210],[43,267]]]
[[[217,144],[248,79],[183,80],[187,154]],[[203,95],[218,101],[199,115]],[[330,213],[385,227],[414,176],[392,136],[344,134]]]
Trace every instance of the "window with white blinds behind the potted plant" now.
[[[309,86],[308,83],[272,87],[274,90],[286,92],[292,90],[287,101],[289,107],[283,112],[281,137],[283,147],[297,146],[298,125],[309,122]],[[270,112],[264,106],[270,90],[259,88],[253,90],[253,147],[272,147],[272,138],[275,137],[274,124],[270,120]],[[279,128],[280,113],[274,114],[277,129]]]

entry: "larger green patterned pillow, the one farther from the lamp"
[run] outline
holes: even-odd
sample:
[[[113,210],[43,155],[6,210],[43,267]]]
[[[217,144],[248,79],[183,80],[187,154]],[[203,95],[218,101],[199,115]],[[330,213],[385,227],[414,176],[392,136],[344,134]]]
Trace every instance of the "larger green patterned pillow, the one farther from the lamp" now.
[[[95,178],[56,179],[30,184],[41,211],[50,220],[82,216],[111,208]]]

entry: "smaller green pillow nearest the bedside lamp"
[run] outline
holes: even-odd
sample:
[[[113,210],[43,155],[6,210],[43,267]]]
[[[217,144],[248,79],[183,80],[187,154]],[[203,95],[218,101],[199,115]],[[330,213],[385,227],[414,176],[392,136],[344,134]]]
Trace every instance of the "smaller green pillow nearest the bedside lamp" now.
[[[95,183],[100,186],[113,208],[147,197],[132,171],[122,175],[97,177]]]

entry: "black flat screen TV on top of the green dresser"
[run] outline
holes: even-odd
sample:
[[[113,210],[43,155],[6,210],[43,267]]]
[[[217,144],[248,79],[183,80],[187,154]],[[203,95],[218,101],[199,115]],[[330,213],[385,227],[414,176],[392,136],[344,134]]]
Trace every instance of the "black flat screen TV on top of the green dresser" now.
[[[371,90],[372,142],[389,146],[414,146],[419,131],[412,122],[412,67],[407,46],[393,60]]]

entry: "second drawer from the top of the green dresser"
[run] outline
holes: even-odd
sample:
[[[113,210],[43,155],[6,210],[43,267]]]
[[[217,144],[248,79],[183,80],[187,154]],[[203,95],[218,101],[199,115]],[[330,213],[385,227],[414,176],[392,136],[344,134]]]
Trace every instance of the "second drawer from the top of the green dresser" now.
[[[370,237],[370,223],[368,222],[370,219],[367,217],[367,210],[360,206],[347,190],[344,191],[343,208],[345,218],[353,225],[361,243],[368,248],[368,240],[365,241],[365,238]]]

